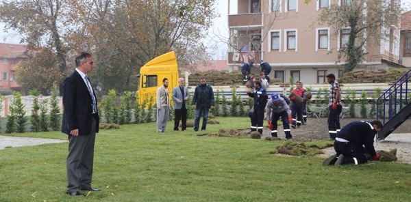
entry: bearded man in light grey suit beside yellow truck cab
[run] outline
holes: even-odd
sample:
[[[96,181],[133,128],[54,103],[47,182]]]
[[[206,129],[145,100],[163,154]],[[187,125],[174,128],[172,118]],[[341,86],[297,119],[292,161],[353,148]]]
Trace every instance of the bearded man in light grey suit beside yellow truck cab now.
[[[157,103],[157,132],[166,132],[167,121],[169,121],[171,106],[169,100],[169,80],[163,79],[163,85],[158,87],[155,93]]]

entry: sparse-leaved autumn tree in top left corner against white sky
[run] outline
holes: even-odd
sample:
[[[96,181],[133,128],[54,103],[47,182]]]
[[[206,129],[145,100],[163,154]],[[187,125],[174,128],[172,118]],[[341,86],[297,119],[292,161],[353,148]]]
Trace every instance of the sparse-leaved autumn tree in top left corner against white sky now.
[[[61,0],[3,0],[0,3],[0,22],[5,24],[5,31],[13,29],[20,33],[21,43],[27,44],[29,51],[53,50],[58,70],[63,74],[69,50],[65,45],[67,35],[64,35],[64,30],[69,27],[67,25],[75,25],[69,23],[67,7],[66,1]]]

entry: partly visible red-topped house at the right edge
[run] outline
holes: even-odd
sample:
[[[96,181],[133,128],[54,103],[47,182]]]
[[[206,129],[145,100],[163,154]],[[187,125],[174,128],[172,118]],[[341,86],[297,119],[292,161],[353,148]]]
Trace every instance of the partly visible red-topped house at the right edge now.
[[[411,11],[401,14],[400,63],[411,67]]]

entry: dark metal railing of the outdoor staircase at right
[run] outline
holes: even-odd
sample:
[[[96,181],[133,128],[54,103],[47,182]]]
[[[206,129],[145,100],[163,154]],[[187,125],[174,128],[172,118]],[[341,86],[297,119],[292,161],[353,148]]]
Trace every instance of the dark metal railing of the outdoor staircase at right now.
[[[382,124],[386,124],[386,119],[393,118],[404,106],[408,104],[408,81],[411,78],[411,70],[403,74],[389,89],[387,89],[377,100],[377,119],[382,119]],[[388,110],[386,107],[388,106]],[[382,117],[379,117],[379,108],[382,107]],[[388,115],[386,115],[388,113]]]

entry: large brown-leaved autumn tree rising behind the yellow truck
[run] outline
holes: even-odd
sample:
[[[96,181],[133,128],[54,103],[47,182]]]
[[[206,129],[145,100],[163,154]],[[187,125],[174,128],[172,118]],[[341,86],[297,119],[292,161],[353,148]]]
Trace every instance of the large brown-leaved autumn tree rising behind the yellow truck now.
[[[73,46],[95,47],[92,75],[102,91],[134,91],[140,67],[158,55],[175,51],[182,68],[201,58],[201,38],[216,15],[214,1],[71,0],[77,8],[71,18],[83,25],[70,29],[78,36]]]

